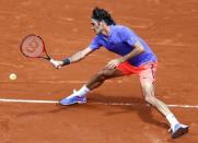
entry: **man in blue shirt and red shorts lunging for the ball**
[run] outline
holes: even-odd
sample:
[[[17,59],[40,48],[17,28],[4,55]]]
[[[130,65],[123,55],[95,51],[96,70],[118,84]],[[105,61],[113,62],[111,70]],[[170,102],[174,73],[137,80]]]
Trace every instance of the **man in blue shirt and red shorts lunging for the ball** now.
[[[86,94],[101,86],[105,80],[138,74],[145,102],[166,117],[171,126],[172,138],[176,139],[187,133],[189,127],[179,123],[167,106],[154,96],[154,73],[158,58],[144,40],[130,28],[116,25],[110,14],[104,9],[95,8],[93,10],[91,24],[96,36],[90,46],[67,59],[57,60],[54,67],[60,68],[78,62],[102,46],[120,57],[110,60],[79,91],[73,91],[70,96],[61,99],[60,105],[84,104]]]

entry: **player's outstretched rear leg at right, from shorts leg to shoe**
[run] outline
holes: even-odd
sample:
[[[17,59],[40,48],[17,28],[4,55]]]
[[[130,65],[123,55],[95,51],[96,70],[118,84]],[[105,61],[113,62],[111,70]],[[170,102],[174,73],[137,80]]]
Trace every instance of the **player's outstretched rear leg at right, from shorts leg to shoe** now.
[[[166,117],[171,124],[172,138],[178,138],[188,131],[188,126],[179,123],[168,107],[155,97],[153,73],[154,70],[152,68],[147,69],[140,73],[140,83],[143,96],[149,104],[154,106],[164,117]]]

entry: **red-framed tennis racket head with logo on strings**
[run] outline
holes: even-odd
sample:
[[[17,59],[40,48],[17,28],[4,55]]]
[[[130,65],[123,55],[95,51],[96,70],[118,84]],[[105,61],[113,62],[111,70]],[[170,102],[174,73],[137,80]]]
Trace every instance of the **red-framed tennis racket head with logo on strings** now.
[[[44,40],[40,36],[30,34],[25,36],[20,46],[21,52],[30,58],[44,58],[50,60],[46,52]]]

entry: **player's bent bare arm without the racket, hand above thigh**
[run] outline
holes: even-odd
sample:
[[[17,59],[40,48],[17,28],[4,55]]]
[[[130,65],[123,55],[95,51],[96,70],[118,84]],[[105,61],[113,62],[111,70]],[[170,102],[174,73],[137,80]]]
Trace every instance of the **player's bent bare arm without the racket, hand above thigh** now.
[[[127,53],[126,56],[124,57],[120,57],[120,58],[117,58],[117,59],[114,59],[112,61],[109,61],[107,64],[106,64],[106,68],[107,69],[114,69],[116,68],[117,65],[119,65],[121,62],[125,62],[140,53],[144,52],[144,48],[143,46],[141,45],[141,43],[139,40],[137,40],[135,44],[133,44],[133,49]]]

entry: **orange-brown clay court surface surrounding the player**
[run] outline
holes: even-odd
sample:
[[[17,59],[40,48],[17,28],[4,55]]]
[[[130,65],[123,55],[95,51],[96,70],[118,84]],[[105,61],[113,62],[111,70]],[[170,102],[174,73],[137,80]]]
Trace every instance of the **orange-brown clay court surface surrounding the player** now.
[[[176,105],[171,110],[190,126],[189,133],[172,140],[165,118],[144,103],[139,79],[125,76],[106,81],[89,94],[85,105],[0,102],[0,142],[197,143],[197,0],[1,0],[0,99],[57,102],[116,58],[102,48],[56,70],[20,51],[28,34],[40,35],[54,59],[85,48],[94,36],[90,17],[96,5],[152,47],[159,57],[156,96]],[[11,81],[10,73],[18,80]]]

